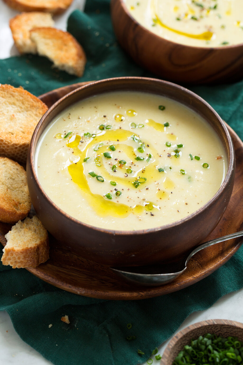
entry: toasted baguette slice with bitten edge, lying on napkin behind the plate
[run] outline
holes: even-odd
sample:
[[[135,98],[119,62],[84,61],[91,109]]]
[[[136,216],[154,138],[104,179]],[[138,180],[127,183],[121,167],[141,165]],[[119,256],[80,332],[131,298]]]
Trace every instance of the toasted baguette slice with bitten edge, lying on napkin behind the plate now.
[[[30,38],[36,44],[37,53],[48,57],[54,66],[71,75],[83,75],[85,51],[70,33],[55,28],[34,28]]]

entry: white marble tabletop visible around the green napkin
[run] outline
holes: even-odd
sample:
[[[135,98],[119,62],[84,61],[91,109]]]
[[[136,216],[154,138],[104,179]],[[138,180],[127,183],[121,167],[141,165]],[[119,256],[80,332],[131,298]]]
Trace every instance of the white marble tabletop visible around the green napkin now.
[[[84,6],[84,1],[85,0],[74,0],[68,11],[66,11],[61,16],[54,17],[56,27],[65,30],[68,15],[76,8],[82,10]],[[0,58],[7,58],[11,55],[18,54],[15,46],[13,45],[11,31],[8,26],[9,19],[11,19],[16,14],[17,12],[8,8],[7,5],[5,5],[0,0]],[[179,330],[189,326],[189,324],[206,319],[231,319],[243,322],[242,303],[243,289],[239,290],[238,292],[234,292],[224,296],[208,310],[191,314],[183,322]],[[158,353],[162,354],[168,341],[160,346]],[[51,362],[44,359],[42,355],[40,355],[37,351],[32,349],[32,347],[30,347],[21,340],[21,338],[13,328],[11,319],[7,312],[0,312],[0,354],[0,365],[51,364]],[[159,364],[159,362],[154,359],[153,364]]]

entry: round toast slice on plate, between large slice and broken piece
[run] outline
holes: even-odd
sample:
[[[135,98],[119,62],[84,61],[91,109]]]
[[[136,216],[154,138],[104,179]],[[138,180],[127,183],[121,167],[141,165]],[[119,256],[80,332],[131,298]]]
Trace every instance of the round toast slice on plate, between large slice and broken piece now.
[[[0,157],[0,221],[16,223],[30,208],[26,171],[17,162]]]

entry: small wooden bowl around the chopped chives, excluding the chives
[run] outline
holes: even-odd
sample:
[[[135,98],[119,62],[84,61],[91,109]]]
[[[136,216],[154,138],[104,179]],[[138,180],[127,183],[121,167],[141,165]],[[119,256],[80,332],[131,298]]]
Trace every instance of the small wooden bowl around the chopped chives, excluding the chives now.
[[[160,364],[172,365],[179,352],[184,350],[184,346],[191,346],[192,339],[196,340],[205,334],[214,334],[222,338],[237,337],[239,341],[243,342],[243,323],[228,319],[209,319],[191,324],[171,339],[165,348]],[[243,360],[239,364],[242,362]]]

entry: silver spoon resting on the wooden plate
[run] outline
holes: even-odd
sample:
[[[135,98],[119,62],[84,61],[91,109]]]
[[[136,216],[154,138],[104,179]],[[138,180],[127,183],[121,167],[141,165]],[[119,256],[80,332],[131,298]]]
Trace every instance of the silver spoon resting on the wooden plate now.
[[[206,247],[215,245],[216,243],[227,241],[228,239],[237,238],[243,236],[243,231],[228,234],[220,238],[212,239],[198,245],[194,250],[191,251],[185,258],[180,261],[173,262],[170,264],[155,264],[149,266],[124,266],[118,268],[110,268],[120,277],[137,285],[146,286],[158,286],[169,283],[175,280],[187,269],[187,263],[190,258],[195,255],[198,251],[205,249]]]

